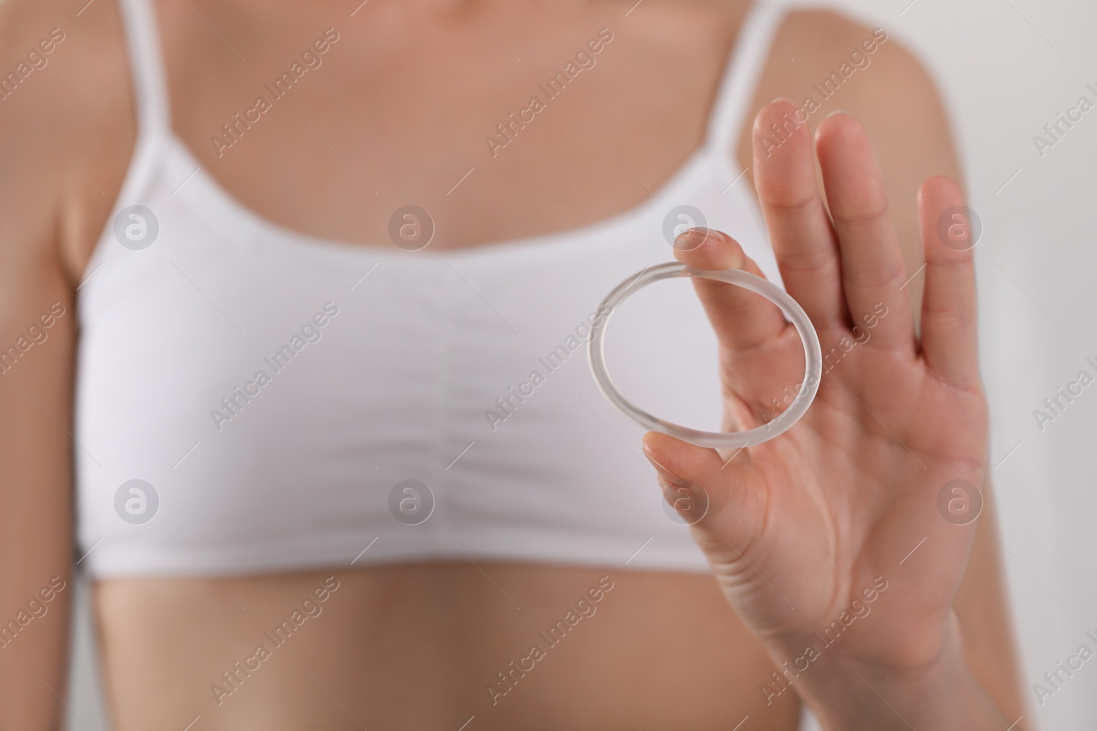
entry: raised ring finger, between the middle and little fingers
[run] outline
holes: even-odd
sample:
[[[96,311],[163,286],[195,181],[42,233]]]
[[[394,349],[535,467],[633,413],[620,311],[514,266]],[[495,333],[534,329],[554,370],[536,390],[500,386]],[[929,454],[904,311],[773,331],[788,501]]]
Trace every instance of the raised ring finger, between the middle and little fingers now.
[[[842,289],[850,319],[859,322],[879,304],[887,308],[873,331],[875,347],[915,352],[914,325],[898,237],[887,214],[887,189],[872,140],[848,114],[819,124],[816,151],[830,218],[841,249]]]

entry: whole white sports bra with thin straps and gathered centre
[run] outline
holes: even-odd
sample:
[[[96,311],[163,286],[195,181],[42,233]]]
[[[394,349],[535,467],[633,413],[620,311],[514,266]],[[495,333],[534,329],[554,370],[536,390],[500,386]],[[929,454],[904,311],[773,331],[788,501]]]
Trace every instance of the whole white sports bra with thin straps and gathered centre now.
[[[705,142],[642,204],[411,252],[320,240],[237,203],[171,132],[151,3],[122,8],[138,139],[78,293],[78,538],[93,575],[482,559],[708,571],[640,427],[598,393],[585,334],[615,284],[674,258],[677,206],[780,283],[733,162],[779,9],[743,22]],[[608,353],[642,406],[717,429],[715,342],[681,284],[630,300]]]

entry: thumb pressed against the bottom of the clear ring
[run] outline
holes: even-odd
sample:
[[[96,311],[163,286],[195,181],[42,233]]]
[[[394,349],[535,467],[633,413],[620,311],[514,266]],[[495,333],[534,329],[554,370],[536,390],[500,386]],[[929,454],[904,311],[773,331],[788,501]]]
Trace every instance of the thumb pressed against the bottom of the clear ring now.
[[[710,561],[722,563],[751,542],[764,524],[766,500],[745,449],[722,459],[715,449],[659,432],[644,434],[643,445],[664,496],[692,526]]]

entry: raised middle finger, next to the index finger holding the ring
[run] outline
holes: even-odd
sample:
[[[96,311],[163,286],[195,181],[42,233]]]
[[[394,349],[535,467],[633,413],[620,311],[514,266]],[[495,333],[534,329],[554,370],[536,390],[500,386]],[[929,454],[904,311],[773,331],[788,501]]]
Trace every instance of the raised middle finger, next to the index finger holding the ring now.
[[[838,242],[819,195],[806,121],[788,101],[768,104],[754,126],[755,189],[784,287],[816,329],[846,323]]]

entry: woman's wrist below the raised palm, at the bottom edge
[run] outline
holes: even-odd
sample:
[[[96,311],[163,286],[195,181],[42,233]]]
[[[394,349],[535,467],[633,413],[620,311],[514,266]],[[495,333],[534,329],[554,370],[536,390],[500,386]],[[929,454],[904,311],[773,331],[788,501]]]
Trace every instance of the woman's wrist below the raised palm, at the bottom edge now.
[[[826,651],[795,670],[804,664],[782,660],[774,687],[794,689],[827,730],[1004,731],[1016,720],[1004,717],[971,673],[954,617],[940,651],[923,664],[880,664]]]

